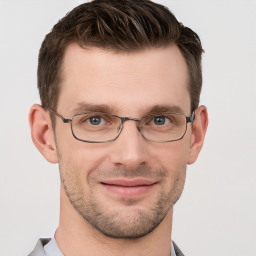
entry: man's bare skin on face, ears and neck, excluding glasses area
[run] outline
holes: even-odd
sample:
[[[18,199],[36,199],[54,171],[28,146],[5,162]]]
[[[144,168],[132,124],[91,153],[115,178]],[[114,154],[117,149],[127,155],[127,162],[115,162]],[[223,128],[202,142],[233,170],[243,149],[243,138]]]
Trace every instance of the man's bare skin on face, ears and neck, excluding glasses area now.
[[[153,106],[175,106],[191,114],[186,63],[175,45],[117,54],[71,44],[63,66],[56,112],[66,118],[77,113],[81,103],[104,104],[106,112],[134,118],[150,113]],[[82,111],[86,109],[79,108]],[[55,239],[66,256],[170,254],[172,206],[182,192],[186,164],[196,160],[207,127],[206,108],[200,106],[195,113],[193,129],[188,124],[177,141],[148,141],[136,122],[127,121],[116,140],[86,143],[76,140],[70,124],[58,117],[54,140],[49,111],[37,104],[31,107],[33,142],[48,161],[59,163]],[[142,191],[136,185],[136,192],[105,185],[113,182],[150,185]]]

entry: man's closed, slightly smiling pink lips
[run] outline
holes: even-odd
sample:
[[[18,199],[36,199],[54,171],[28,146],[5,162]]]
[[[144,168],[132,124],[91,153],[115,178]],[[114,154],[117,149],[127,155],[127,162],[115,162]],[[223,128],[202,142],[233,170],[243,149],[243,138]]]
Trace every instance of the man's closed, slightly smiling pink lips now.
[[[122,197],[136,197],[146,194],[154,188],[156,183],[148,179],[113,179],[100,182],[106,191]]]

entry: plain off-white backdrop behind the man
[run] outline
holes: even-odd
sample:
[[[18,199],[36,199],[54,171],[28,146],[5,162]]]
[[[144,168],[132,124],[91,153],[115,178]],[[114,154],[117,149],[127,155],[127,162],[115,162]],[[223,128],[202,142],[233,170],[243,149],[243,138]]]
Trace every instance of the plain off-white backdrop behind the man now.
[[[58,166],[30,138],[44,35],[81,0],[0,0],[0,256],[27,255],[58,225]],[[209,126],[174,206],[190,256],[256,255],[256,1],[158,0],[201,38]]]

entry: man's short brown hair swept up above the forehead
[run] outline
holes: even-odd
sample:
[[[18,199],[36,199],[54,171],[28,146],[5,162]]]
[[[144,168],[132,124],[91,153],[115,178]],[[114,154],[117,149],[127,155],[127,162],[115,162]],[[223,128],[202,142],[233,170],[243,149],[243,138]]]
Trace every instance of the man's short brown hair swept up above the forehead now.
[[[93,0],[78,5],[45,36],[38,56],[37,86],[42,106],[56,110],[67,45],[137,52],[176,44],[187,64],[191,111],[199,103],[202,73],[198,35],[171,11],[150,0]]]

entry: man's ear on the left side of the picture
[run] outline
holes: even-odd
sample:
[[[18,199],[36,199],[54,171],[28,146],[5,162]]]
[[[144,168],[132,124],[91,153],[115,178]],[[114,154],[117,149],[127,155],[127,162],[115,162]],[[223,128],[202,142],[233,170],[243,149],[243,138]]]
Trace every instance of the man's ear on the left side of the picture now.
[[[41,105],[33,104],[28,119],[33,143],[47,161],[57,163],[56,145],[49,112]]]

